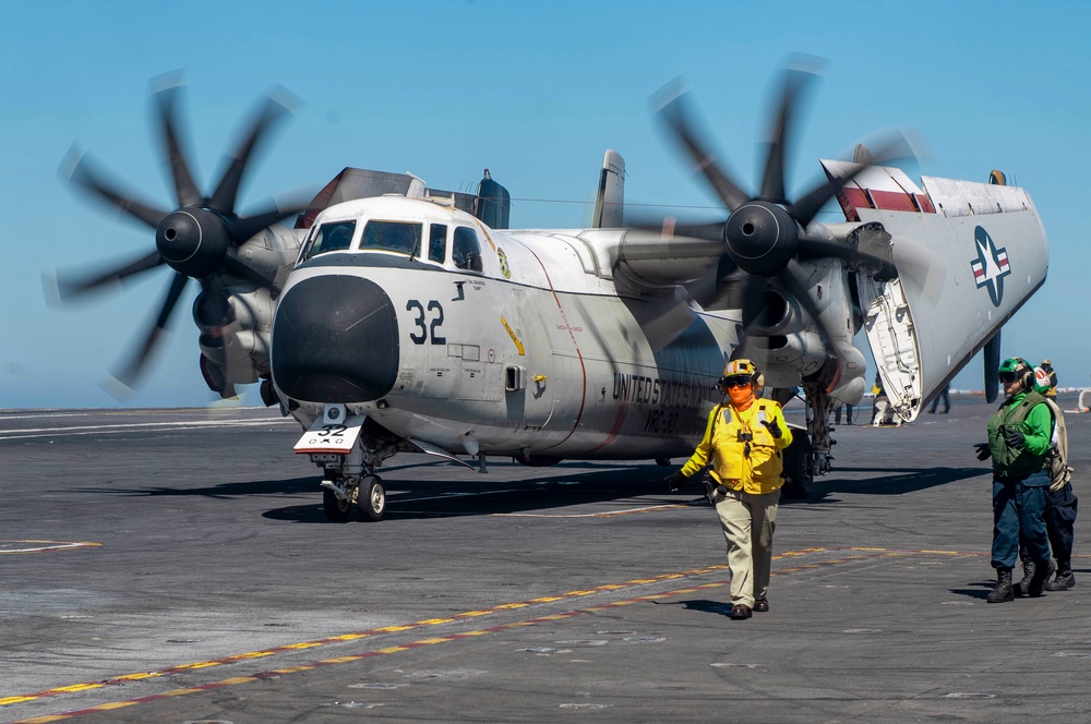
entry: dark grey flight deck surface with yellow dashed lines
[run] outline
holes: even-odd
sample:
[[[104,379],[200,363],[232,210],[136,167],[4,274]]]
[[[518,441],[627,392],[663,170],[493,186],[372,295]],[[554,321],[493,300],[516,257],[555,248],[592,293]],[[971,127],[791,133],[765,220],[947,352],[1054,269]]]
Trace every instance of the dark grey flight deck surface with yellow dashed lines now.
[[[1089,721],[1091,523],[1076,589],[985,603],[992,409],[839,427],[745,622],[681,459],[399,455],[333,523],[276,410],[0,410],[0,721]]]

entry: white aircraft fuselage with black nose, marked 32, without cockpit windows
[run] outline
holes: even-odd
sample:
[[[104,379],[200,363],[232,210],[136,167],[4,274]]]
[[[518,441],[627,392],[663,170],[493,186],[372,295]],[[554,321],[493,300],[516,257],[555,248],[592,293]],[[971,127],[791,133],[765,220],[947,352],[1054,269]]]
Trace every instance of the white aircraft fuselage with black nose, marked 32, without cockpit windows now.
[[[350,246],[308,257],[304,241],[274,321],[274,382],[304,426],[344,403],[456,454],[647,459],[699,442],[739,319],[676,287],[619,293],[609,255],[625,230],[502,232],[395,197],[315,228],[343,218],[358,221]],[[359,227],[375,219],[421,225],[416,254],[368,246]],[[471,231],[477,262],[453,242],[440,253],[433,228]]]

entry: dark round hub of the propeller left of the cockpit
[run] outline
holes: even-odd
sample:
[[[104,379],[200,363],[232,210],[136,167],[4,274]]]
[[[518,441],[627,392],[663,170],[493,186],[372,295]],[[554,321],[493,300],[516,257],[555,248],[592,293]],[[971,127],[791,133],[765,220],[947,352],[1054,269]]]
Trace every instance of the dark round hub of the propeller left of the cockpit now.
[[[168,214],[155,230],[159,255],[176,272],[194,279],[220,268],[228,245],[224,220],[200,208]]]

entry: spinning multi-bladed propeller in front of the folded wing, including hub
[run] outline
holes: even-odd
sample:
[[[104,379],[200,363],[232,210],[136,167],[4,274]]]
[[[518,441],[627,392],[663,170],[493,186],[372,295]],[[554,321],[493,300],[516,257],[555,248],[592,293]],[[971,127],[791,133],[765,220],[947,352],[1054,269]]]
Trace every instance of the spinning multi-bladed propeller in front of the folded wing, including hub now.
[[[834,339],[830,329],[805,287],[805,269],[799,260],[838,257],[850,264],[867,264],[878,269],[876,278],[892,278],[897,270],[888,260],[831,242],[824,229],[810,229],[819,209],[849,181],[872,164],[911,155],[904,136],[897,136],[878,146],[866,162],[856,162],[850,172],[825,180],[794,201],[787,198],[784,167],[789,145],[794,137],[794,121],[801,96],[816,77],[810,71],[788,69],[775,109],[776,116],[768,144],[760,190],[751,195],[728,173],[709,145],[700,137],[688,109],[687,94],[676,93],[659,109],[659,116],[671,135],[696,165],[702,178],[729,212],[726,220],[714,224],[680,224],[674,219],[639,225],[656,228],[664,234],[687,237],[722,243],[722,255],[716,279],[734,274],[742,281],[742,312],[746,338],[775,321],[775,307],[794,300],[818,325],[824,340]],[[783,294],[783,300],[777,300]]]

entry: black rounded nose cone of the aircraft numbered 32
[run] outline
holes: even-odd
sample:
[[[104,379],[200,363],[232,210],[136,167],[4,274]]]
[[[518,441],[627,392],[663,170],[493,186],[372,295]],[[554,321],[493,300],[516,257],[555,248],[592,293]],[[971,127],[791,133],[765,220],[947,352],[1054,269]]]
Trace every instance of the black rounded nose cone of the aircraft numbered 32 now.
[[[398,373],[398,325],[391,298],[362,277],[303,279],[277,304],[271,362],[273,382],[292,399],[380,399]]]

